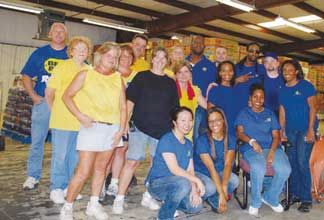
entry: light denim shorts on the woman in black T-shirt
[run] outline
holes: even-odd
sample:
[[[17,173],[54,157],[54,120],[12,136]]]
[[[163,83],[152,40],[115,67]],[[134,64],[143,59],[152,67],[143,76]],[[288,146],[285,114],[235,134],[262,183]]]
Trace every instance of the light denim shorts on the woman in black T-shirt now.
[[[154,157],[158,141],[134,127],[129,132],[127,160],[145,160],[146,147],[149,148],[151,157]]]

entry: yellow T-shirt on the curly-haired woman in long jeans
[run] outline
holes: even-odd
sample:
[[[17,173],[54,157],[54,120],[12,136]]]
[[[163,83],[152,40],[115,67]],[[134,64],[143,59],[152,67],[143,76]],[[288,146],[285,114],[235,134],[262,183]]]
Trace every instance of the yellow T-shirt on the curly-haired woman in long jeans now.
[[[68,59],[60,62],[53,69],[51,78],[47,83],[47,87],[55,89],[55,98],[49,124],[50,128],[68,131],[78,131],[80,129],[80,122],[68,110],[62,101],[62,96],[74,77],[80,71],[90,68],[91,67],[86,64],[84,64],[83,67],[79,67],[72,59]]]

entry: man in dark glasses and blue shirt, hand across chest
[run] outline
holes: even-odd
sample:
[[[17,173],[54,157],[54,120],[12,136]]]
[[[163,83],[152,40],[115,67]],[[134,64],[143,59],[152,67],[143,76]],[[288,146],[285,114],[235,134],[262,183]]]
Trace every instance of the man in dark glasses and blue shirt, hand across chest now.
[[[239,97],[236,105],[237,112],[248,106],[250,86],[254,83],[262,84],[265,75],[264,66],[257,62],[260,45],[258,43],[248,44],[247,52],[247,56],[235,66],[235,94]]]

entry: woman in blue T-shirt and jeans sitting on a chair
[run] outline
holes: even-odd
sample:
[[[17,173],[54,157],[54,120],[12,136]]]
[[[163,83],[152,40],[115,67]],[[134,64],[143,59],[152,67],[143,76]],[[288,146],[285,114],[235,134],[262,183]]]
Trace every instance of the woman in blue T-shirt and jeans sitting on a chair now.
[[[241,110],[235,121],[238,138],[246,143],[240,147],[240,152],[251,168],[252,199],[249,214],[258,216],[262,202],[275,212],[283,212],[279,195],[291,168],[286,154],[278,148],[280,126],[276,115],[263,107],[264,89],[261,85],[251,86],[250,103],[251,107]],[[275,174],[269,188],[261,195],[267,166],[272,166]]]

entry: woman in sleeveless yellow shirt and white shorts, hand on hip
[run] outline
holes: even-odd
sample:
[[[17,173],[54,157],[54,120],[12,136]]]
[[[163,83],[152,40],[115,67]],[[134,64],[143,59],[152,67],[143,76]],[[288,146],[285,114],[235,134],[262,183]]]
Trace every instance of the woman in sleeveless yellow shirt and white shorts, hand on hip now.
[[[94,69],[78,73],[63,95],[64,103],[80,121],[81,128],[77,138],[80,160],[68,187],[61,219],[73,219],[73,201],[91,175],[86,214],[108,219],[99,204],[99,194],[113,149],[123,144],[121,138],[126,126],[125,88],[115,71],[119,55],[118,45],[104,43],[94,54]],[[78,103],[80,99],[84,101]]]

